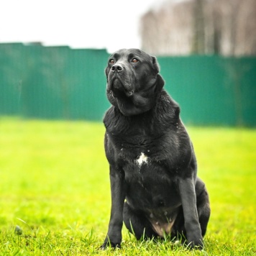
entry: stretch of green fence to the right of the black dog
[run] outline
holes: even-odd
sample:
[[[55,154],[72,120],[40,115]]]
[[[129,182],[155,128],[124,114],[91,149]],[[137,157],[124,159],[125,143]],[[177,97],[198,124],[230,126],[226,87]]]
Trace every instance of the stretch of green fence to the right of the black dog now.
[[[158,58],[188,124],[256,126],[256,58]]]

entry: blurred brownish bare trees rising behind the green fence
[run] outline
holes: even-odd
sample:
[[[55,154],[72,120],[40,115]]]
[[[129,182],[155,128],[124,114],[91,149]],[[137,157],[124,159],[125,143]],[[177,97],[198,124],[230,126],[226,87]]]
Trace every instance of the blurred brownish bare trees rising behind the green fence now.
[[[256,1],[168,1],[142,17],[140,32],[155,55],[256,55]]]

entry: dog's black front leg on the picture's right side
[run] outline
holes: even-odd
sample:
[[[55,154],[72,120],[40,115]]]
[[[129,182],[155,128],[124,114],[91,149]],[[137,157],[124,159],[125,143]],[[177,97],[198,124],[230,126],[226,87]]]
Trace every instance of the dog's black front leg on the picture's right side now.
[[[196,208],[196,191],[193,178],[180,178],[179,189],[183,214],[185,219],[186,238],[188,246],[204,247],[201,227],[198,221],[198,212]]]

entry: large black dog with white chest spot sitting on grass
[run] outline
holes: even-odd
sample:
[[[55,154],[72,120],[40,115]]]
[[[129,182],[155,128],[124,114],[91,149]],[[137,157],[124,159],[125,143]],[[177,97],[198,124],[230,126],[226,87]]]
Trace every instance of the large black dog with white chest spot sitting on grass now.
[[[104,116],[111,217],[101,248],[120,247],[123,221],[137,239],[181,235],[203,247],[209,196],[178,104],[163,90],[155,57],[114,52],[105,70],[112,106]]]

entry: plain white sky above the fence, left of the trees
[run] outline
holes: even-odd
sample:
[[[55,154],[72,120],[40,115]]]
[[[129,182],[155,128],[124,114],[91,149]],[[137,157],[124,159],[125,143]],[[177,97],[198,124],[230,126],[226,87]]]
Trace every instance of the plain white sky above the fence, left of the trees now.
[[[140,47],[139,19],[164,0],[0,0],[0,42]]]

